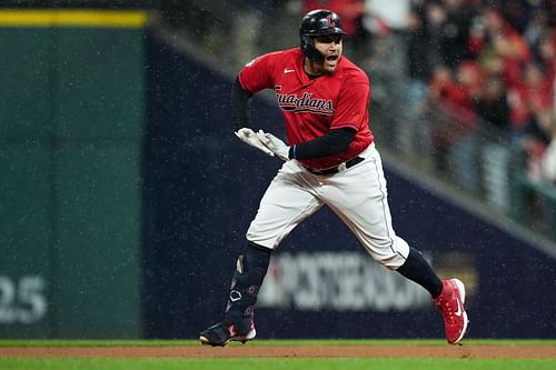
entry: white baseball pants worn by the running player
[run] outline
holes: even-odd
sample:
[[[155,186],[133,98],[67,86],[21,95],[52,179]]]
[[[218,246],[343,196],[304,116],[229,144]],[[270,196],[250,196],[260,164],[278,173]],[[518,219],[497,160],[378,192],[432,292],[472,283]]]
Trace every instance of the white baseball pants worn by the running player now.
[[[380,154],[371,143],[365,160],[335,174],[318,176],[300,162],[284,163],[260,201],[247,240],[276,249],[301,221],[328,206],[380,264],[396,270],[409,254],[407,242],[396,236]]]

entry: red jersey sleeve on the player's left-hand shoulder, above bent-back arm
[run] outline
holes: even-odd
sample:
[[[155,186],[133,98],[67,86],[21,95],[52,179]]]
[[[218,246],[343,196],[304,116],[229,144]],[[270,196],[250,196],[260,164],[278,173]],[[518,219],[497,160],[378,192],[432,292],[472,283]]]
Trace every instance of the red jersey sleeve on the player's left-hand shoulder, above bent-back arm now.
[[[274,66],[271,53],[251,60],[238,73],[241,87],[250,93],[272,89]]]

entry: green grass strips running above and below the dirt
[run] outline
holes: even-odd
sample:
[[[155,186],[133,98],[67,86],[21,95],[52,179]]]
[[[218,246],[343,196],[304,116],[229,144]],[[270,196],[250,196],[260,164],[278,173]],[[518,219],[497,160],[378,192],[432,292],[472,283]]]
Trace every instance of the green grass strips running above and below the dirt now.
[[[258,340],[249,346],[438,346],[440,340]],[[556,340],[466,340],[473,346],[556,346]],[[0,340],[2,347],[190,347],[197,341],[23,341]],[[0,370],[554,370],[555,359],[435,359],[435,358],[150,358],[150,359],[31,359],[0,358]]]

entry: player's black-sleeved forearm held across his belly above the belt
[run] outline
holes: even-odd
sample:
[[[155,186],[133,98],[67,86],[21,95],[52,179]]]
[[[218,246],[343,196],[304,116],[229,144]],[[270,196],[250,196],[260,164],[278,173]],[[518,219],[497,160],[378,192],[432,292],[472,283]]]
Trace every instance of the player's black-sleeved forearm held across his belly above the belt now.
[[[331,130],[320,138],[291,146],[289,158],[314,159],[341,153],[348,150],[355,133],[355,130],[348,128]]]

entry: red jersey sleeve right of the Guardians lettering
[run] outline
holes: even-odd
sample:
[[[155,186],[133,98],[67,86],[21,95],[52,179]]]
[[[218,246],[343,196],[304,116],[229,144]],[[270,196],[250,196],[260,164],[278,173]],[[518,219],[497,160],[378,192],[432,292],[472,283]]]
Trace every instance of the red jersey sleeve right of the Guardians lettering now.
[[[370,86],[368,79],[350,79],[340,89],[330,129],[353,128],[359,131],[361,124],[368,124],[366,117],[369,101]]]

